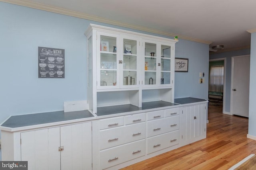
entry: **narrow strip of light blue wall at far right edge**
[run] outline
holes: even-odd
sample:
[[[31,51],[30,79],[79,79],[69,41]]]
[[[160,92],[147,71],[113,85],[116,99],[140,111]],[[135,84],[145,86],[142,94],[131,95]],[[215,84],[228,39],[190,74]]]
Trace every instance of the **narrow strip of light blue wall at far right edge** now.
[[[248,134],[256,137],[256,33],[251,34]]]

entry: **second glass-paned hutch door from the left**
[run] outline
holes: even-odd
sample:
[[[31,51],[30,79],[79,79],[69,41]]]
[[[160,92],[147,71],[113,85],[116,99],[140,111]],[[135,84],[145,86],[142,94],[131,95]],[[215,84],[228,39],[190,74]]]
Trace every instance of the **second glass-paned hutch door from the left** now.
[[[123,88],[138,86],[138,42],[137,39],[122,37],[120,83]]]

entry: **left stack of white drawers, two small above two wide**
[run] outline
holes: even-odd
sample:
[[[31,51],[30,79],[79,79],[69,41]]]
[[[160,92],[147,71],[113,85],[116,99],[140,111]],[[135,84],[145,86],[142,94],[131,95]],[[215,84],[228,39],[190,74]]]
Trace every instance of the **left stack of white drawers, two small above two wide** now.
[[[124,120],[125,124],[123,124]],[[145,113],[101,119],[99,125],[100,169],[144,156],[145,124]],[[106,127],[106,125],[110,126]]]

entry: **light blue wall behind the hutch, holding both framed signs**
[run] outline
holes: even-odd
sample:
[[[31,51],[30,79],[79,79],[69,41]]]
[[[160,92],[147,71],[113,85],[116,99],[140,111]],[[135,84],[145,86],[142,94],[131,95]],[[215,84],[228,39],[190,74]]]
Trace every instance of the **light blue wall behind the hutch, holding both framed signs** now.
[[[86,100],[84,31],[90,23],[136,31],[0,2],[0,122],[10,115],[63,110],[65,101]],[[38,78],[38,46],[65,49],[65,78]],[[199,72],[208,75],[208,45],[180,39],[176,55],[189,59],[189,72],[175,74],[175,97],[207,99],[208,76],[204,84],[198,79]]]

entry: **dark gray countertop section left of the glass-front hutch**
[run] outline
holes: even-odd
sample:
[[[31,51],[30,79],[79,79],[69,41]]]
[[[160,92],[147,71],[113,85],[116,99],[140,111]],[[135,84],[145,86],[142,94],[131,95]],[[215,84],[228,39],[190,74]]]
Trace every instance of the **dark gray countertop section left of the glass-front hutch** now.
[[[88,117],[94,117],[94,115],[92,115],[88,110],[71,111],[66,113],[64,113],[64,111],[52,111],[11,116],[1,126],[14,128]]]

